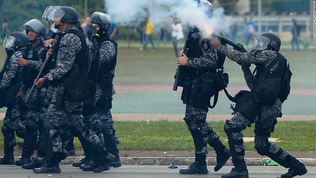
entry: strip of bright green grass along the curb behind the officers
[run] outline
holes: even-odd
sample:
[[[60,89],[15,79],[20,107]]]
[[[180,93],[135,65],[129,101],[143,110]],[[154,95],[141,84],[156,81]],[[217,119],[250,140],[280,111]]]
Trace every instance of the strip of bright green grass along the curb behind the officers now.
[[[220,139],[227,139],[224,133],[224,121],[208,122]],[[0,120],[0,127],[3,121]],[[294,129],[295,126],[295,129]],[[278,122],[271,138],[279,138],[277,143],[285,150],[316,150],[316,121],[282,121]],[[116,121],[114,129],[119,137],[119,150],[164,151],[164,150],[194,150],[193,140],[185,122],[181,121]],[[254,137],[253,127],[247,127],[244,137]],[[22,141],[21,138],[17,138]],[[76,150],[82,150],[77,138],[74,141]],[[228,144],[225,143],[227,146]],[[245,143],[246,151],[254,150],[253,143]],[[0,135],[0,150],[3,149],[3,135]],[[21,150],[18,146],[15,148]],[[210,148],[209,148],[210,149]],[[210,149],[211,150],[211,149]]]

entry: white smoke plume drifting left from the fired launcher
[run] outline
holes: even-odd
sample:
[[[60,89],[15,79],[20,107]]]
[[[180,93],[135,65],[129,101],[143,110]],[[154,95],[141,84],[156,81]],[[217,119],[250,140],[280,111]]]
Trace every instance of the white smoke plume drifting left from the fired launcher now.
[[[166,22],[171,24],[172,17],[177,17],[182,24],[196,26],[202,34],[207,35],[205,25],[213,32],[230,32],[236,23],[232,16],[224,14],[223,8],[213,9],[213,15],[205,15],[206,8],[198,6],[196,0],[105,0],[106,13],[123,25],[138,24],[143,18],[155,24]]]

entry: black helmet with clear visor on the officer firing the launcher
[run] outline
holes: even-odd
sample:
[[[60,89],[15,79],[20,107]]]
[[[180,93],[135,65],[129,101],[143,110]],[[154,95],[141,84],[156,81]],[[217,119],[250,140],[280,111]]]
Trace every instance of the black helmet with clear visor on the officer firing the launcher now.
[[[265,50],[267,47],[270,47],[273,51],[280,51],[281,39],[270,32],[257,35],[252,45],[252,51]]]

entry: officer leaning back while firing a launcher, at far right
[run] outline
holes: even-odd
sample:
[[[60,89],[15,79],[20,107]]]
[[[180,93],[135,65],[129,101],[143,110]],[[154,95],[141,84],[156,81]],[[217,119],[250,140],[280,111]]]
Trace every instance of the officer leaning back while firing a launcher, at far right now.
[[[289,95],[289,77],[292,75],[287,60],[279,53],[281,47],[280,38],[272,33],[257,35],[250,53],[229,49],[221,45],[217,38],[213,38],[211,44],[232,61],[241,63],[246,83],[251,89],[250,99],[243,108],[235,113],[231,120],[226,120],[224,126],[234,168],[230,173],[222,175],[222,178],[249,177],[244,159],[245,147],[241,131],[252,123],[255,123],[254,144],[258,154],[268,156],[283,167],[289,168],[289,171],[282,174],[281,178],[292,178],[296,175],[306,174],[307,169],[303,163],[289,155],[288,151],[268,141],[270,132],[274,130],[276,118],[282,114],[282,103]],[[257,66],[255,76],[252,75],[247,63]],[[264,81],[268,81],[268,83],[258,87]],[[272,99],[265,101],[271,93],[276,91],[276,89],[270,89],[270,87],[275,87],[270,85],[274,81],[277,83],[276,88],[281,88],[281,92],[279,94],[276,93],[275,97],[271,97]],[[285,85],[282,83],[285,83]],[[265,90],[268,90],[269,95],[260,98],[260,92],[265,92]],[[257,91],[259,91],[259,94]]]

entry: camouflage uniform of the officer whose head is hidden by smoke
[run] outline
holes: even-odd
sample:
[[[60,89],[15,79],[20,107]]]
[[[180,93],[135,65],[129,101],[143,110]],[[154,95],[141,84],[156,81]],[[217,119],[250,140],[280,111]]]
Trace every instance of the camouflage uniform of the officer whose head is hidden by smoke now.
[[[194,36],[194,34],[192,35]],[[188,41],[189,43],[191,41]],[[194,42],[191,42],[194,43]],[[201,49],[203,55],[199,57],[192,57],[190,56],[190,51],[188,51],[188,59],[186,60],[186,67],[189,69],[194,69],[199,71],[208,70],[211,68],[216,67],[216,60],[217,60],[217,54],[216,50],[210,45],[210,41],[205,39],[202,36],[199,36],[198,39],[198,46]],[[191,48],[194,48],[194,46],[190,46]],[[189,47],[189,50],[190,50]],[[196,48],[196,47],[195,47]],[[190,78],[192,82],[192,85],[187,85],[186,87],[189,87],[191,91],[194,93],[202,93],[202,83],[201,83],[201,75],[194,74],[193,78]],[[181,98],[185,95],[185,87],[182,92]],[[192,93],[190,94],[190,98]],[[211,147],[214,148],[216,151],[216,154],[219,156],[222,156],[222,152],[226,148],[222,142],[219,140],[219,135],[213,131],[212,127],[206,123],[206,115],[208,112],[209,106],[207,104],[203,104],[204,106],[197,107],[197,106],[191,106],[191,104],[188,101],[183,100],[184,103],[186,103],[185,107],[185,120],[191,135],[193,137],[193,142],[195,146],[195,163],[198,163],[199,166],[206,165],[206,155],[208,153],[207,151],[207,144],[209,144]],[[191,102],[191,99],[190,99]],[[198,103],[201,105],[201,103]],[[191,124],[197,124],[199,126],[198,130],[191,129]],[[229,157],[228,157],[229,158]],[[227,159],[228,159],[227,158]],[[225,161],[226,163],[226,161]],[[216,170],[217,171],[217,170]]]

